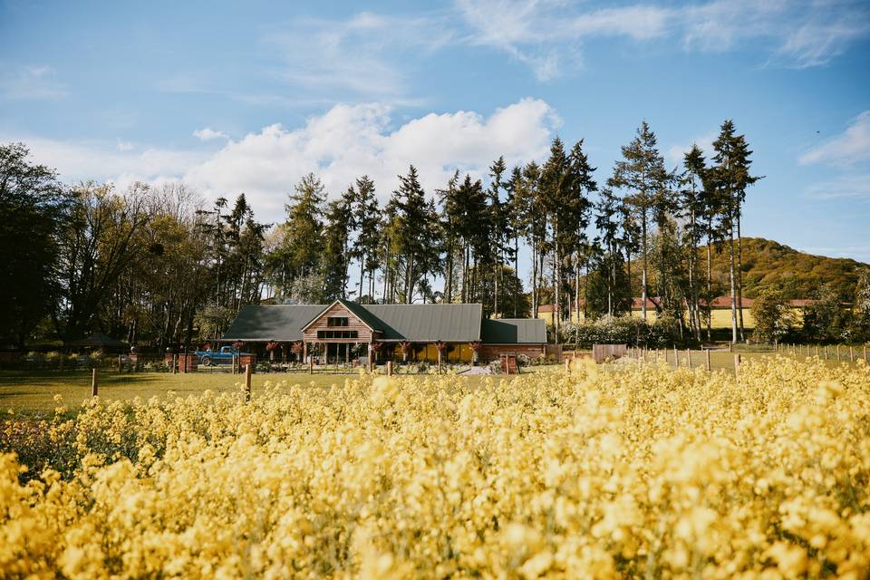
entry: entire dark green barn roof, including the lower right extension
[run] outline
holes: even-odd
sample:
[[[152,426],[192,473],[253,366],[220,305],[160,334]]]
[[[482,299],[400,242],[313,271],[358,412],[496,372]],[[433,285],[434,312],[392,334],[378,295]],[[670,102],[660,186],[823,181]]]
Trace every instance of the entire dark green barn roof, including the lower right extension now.
[[[540,319],[483,320],[480,304],[356,304],[340,301],[353,314],[381,332],[382,341],[412,343],[491,344],[546,343]],[[302,340],[302,329],[328,304],[248,305],[238,311],[224,341],[291,342]]]

